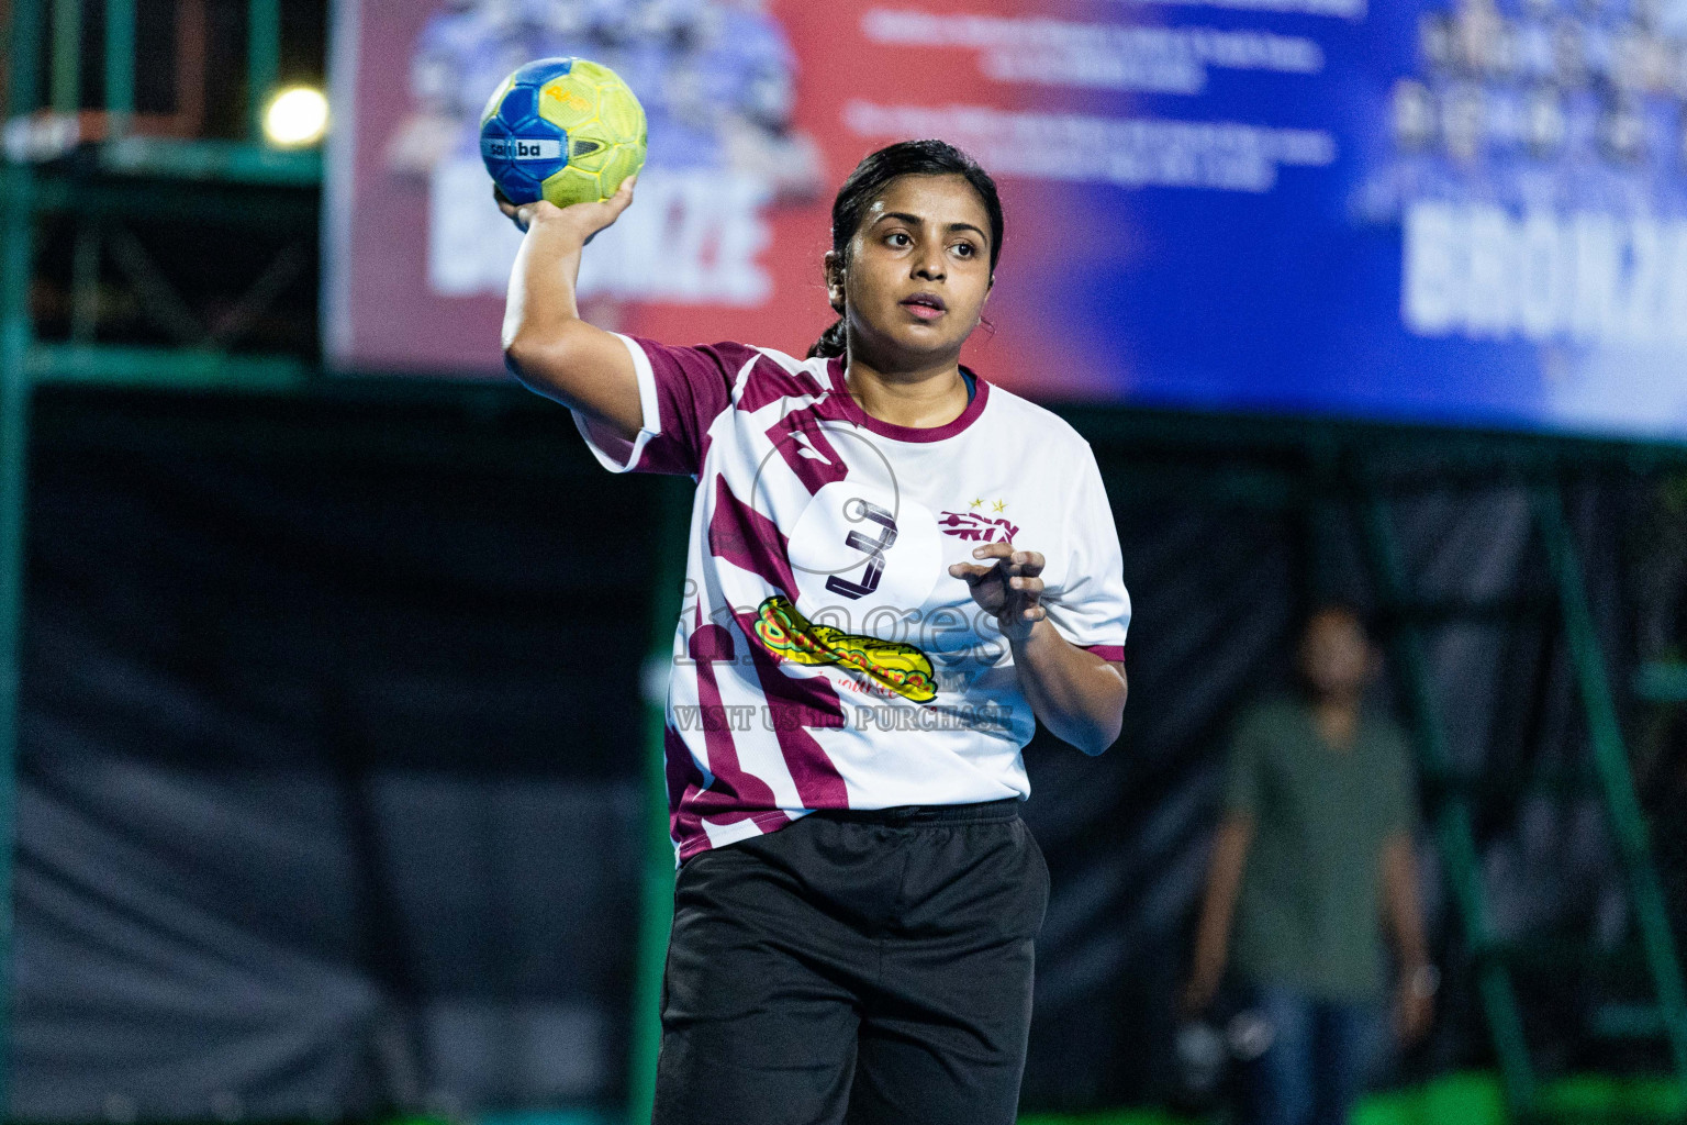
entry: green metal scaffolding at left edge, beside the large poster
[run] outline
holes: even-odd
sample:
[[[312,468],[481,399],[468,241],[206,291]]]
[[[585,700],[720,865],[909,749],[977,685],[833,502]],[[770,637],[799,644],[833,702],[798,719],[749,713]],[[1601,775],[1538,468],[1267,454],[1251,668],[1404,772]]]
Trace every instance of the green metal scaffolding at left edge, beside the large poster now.
[[[221,186],[314,186],[321,155],[278,152],[261,140],[263,101],[280,59],[278,0],[248,3],[248,113],[240,140],[148,137],[137,132],[137,0],[103,0],[105,37],[98,57],[83,51],[83,0],[13,0],[8,47],[7,150],[0,164],[0,1044],[12,1041],[12,874],[19,727],[20,632],[24,621],[29,417],[32,390],[74,381],[162,386],[299,386],[309,366],[292,356],[236,356],[216,349],[116,347],[84,339],[37,339],[30,309],[35,229],[44,214],[147,213],[192,207],[159,182],[192,179],[213,194]],[[51,25],[51,44],[46,32]],[[46,83],[42,62],[49,62]],[[105,105],[86,110],[84,76],[103,78]],[[71,170],[42,157],[67,155],[84,135],[96,172]],[[39,137],[67,137],[42,153]],[[250,209],[251,221],[263,219]],[[10,1056],[0,1051],[0,1112],[10,1105]]]

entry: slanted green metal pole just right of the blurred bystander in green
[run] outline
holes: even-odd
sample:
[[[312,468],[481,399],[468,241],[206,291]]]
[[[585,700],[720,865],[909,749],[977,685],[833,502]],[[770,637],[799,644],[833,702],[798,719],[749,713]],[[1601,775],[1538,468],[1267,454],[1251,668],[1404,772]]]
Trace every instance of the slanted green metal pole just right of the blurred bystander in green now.
[[[1410,587],[1405,560],[1388,519],[1388,506],[1380,498],[1365,498],[1360,516],[1377,587],[1388,604],[1400,606]],[[1432,815],[1436,842],[1447,869],[1453,897],[1464,919],[1466,939],[1476,958],[1476,990],[1488,1014],[1505,1100],[1513,1118],[1528,1120],[1535,1108],[1535,1073],[1528,1061],[1528,1041],[1523,1037],[1512,977],[1505,965],[1493,958],[1493,923],[1483,897],[1476,832],[1469,803],[1447,786],[1453,756],[1447,752],[1447,737],[1431,690],[1429,656],[1415,626],[1400,624],[1393,631],[1393,656],[1395,671],[1405,688],[1412,727],[1417,732],[1419,761],[1426,778],[1441,789]]]

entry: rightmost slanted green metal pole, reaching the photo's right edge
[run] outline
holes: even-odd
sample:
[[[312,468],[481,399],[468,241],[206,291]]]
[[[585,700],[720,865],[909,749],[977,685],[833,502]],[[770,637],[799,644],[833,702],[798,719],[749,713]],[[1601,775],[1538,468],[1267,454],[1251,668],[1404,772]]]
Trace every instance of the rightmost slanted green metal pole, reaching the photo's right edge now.
[[[1652,970],[1653,987],[1658,993],[1658,1014],[1668,1037],[1675,1078],[1682,1096],[1687,1096],[1687,985],[1682,982],[1682,963],[1675,948],[1675,934],[1670,933],[1663,891],[1658,885],[1657,869],[1652,865],[1647,816],[1640,808],[1635,779],[1628,771],[1628,749],[1623,744],[1623,727],[1616,719],[1616,702],[1611,695],[1611,680],[1606,675],[1593,607],[1587,604],[1587,585],[1576,553],[1576,540],[1564,518],[1564,494],[1557,487],[1542,487],[1535,491],[1533,499],[1547,562],[1559,587],[1564,639],[1581,688],[1594,769],[1599,774],[1606,810],[1611,815],[1611,830],[1616,835],[1618,853],[1628,875],[1628,892],[1647,966]]]

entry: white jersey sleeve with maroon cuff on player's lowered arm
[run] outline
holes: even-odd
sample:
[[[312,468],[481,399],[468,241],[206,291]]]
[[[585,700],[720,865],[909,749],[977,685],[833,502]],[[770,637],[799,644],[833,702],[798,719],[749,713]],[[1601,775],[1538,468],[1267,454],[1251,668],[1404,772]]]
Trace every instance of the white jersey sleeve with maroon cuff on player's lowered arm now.
[[[1095,452],[1083,442],[1081,467],[1066,498],[1068,550],[1059,589],[1044,590],[1049,624],[1071,644],[1102,659],[1125,658],[1130,629],[1130,592],[1125,560],[1113,526],[1113,506],[1102,484]]]

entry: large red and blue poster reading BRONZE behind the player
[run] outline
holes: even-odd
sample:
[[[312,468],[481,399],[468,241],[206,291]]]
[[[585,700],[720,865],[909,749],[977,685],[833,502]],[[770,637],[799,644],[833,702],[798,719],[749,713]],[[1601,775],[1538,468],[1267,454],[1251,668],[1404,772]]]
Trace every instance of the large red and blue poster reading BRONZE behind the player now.
[[[336,52],[348,369],[498,373],[476,120],[577,54],[649,115],[599,324],[805,353],[837,184],[943,137],[1016,391],[1687,437],[1687,0],[342,0]]]

